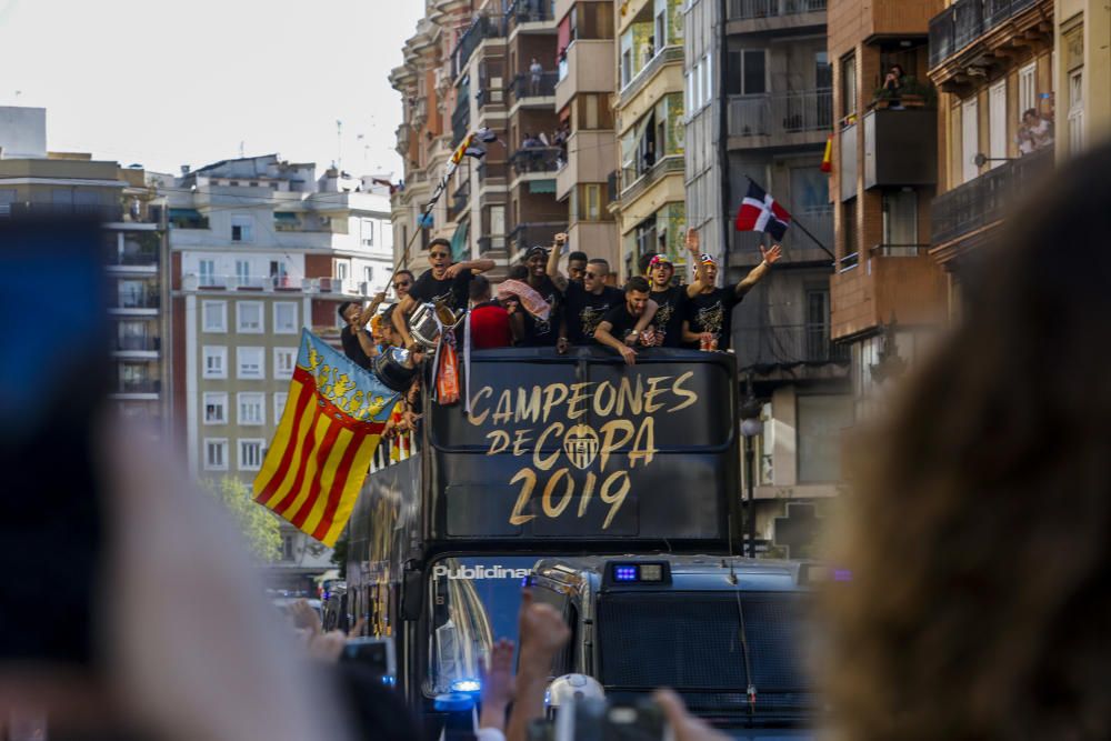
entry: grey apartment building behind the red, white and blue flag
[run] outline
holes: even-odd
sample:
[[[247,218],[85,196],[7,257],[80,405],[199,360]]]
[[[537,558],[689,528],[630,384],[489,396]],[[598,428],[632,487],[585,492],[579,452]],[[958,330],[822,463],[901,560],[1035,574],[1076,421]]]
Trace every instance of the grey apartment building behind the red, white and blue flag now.
[[[830,334],[833,261],[822,249],[833,246],[821,171],[832,129],[825,10],[825,0],[684,8],[687,209],[702,250],[723,267],[723,284],[760,261],[770,238],[733,228],[750,179],[797,222],[782,259],[733,317],[741,375],[765,401],[753,484],[757,537],[772,542],[785,502],[837,493],[841,431],[852,424],[848,351]]]

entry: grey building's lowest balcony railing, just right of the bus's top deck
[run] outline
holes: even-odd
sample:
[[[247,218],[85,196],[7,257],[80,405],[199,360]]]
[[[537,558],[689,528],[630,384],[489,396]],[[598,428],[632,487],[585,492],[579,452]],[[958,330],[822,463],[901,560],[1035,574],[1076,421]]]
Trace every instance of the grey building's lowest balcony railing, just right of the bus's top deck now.
[[[738,327],[733,341],[745,368],[849,362],[849,348],[830,339],[827,323]]]

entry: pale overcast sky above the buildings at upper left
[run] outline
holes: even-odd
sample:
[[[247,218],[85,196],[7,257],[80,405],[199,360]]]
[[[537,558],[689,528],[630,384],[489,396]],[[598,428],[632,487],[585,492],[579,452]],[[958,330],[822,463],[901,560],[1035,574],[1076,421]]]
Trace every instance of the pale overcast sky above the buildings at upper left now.
[[[242,148],[398,179],[401,97],[388,76],[423,7],[0,0],[0,106],[46,108],[51,151],[159,172]]]

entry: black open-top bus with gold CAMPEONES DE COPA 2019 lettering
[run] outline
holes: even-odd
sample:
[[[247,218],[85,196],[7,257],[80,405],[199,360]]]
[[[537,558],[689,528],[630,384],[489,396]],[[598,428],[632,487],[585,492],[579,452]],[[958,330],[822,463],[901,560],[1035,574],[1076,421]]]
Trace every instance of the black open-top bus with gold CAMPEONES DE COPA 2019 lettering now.
[[[452,405],[424,394],[412,454],[368,477],[349,531],[348,612],[394,639],[397,682],[426,711],[516,635],[541,559],[739,542],[733,356],[487,350],[462,385]]]

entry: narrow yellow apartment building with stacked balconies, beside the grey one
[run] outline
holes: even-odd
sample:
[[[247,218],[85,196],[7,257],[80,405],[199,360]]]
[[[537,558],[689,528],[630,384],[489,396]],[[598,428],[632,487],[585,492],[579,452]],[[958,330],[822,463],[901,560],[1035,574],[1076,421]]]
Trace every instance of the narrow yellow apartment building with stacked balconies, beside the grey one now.
[[[611,98],[620,164],[610,209],[621,239],[622,280],[645,254],[663,252],[685,269],[682,0],[630,0],[617,7],[617,92]]]

